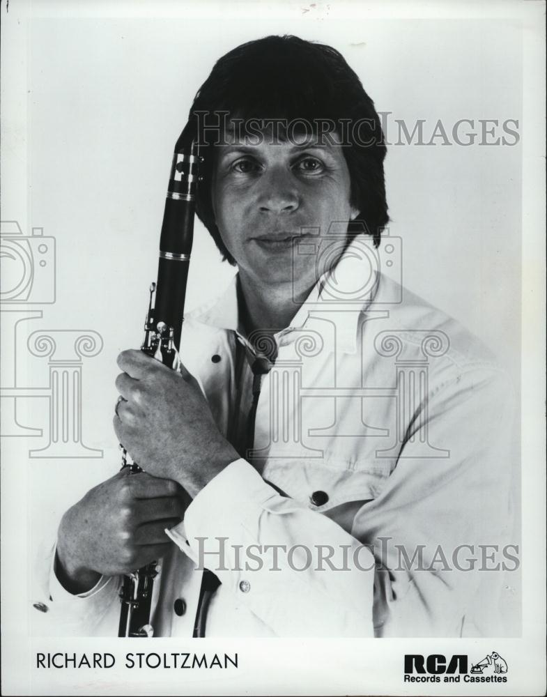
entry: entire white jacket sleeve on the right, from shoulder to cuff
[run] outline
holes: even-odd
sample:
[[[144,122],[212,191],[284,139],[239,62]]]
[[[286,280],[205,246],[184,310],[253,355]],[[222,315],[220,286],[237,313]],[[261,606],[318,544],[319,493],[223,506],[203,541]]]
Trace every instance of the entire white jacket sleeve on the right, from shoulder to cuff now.
[[[238,460],[198,494],[171,538],[278,636],[497,634],[504,573],[515,568],[505,556],[509,381],[497,369],[467,369],[418,409],[351,534]],[[334,550],[332,564],[321,563],[321,549]]]

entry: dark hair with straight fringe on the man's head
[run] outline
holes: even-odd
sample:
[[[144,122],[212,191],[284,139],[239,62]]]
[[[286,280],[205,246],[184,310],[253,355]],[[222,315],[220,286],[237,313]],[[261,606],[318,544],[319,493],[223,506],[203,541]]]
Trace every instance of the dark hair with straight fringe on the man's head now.
[[[316,123],[318,118],[346,123],[348,137],[342,148],[350,174],[350,203],[359,210],[348,224],[348,237],[363,229],[374,244],[387,224],[383,160],[386,148],[380,118],[359,77],[334,48],[297,36],[267,36],[242,44],[215,63],[190,109],[199,126],[199,139],[208,144],[204,181],[198,187],[197,214],[217,247],[230,263],[213,215],[211,175],[214,153],[211,130],[203,129],[203,114],[224,112],[229,118],[295,119]],[[198,116],[201,114],[201,116]],[[348,124],[361,121],[367,139],[355,138]]]

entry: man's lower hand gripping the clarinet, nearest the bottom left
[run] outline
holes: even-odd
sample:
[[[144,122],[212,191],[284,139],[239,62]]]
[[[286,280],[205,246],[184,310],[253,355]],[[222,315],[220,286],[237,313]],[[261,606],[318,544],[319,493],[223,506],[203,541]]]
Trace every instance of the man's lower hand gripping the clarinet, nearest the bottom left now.
[[[64,514],[57,578],[66,590],[81,593],[101,574],[127,574],[159,559],[172,544],[165,528],[180,523],[189,503],[176,482],[122,470]]]

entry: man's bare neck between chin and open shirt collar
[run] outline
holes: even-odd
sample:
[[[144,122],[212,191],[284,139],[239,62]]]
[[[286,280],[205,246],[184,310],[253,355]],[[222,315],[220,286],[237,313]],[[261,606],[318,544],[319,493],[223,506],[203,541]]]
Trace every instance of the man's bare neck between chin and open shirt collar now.
[[[238,298],[245,330],[275,334],[285,329],[310,290],[295,296],[291,283],[264,286],[240,272]]]

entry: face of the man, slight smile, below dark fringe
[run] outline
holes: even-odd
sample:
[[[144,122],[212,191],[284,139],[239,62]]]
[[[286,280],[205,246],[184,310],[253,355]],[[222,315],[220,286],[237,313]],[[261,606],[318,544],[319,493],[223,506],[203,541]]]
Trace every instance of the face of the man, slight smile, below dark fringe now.
[[[316,256],[295,253],[309,234],[305,228],[325,235],[332,222],[358,213],[350,206],[341,146],[320,145],[313,137],[272,142],[268,134],[259,144],[226,141],[213,174],[213,210],[224,245],[254,286],[305,293],[317,281]]]

